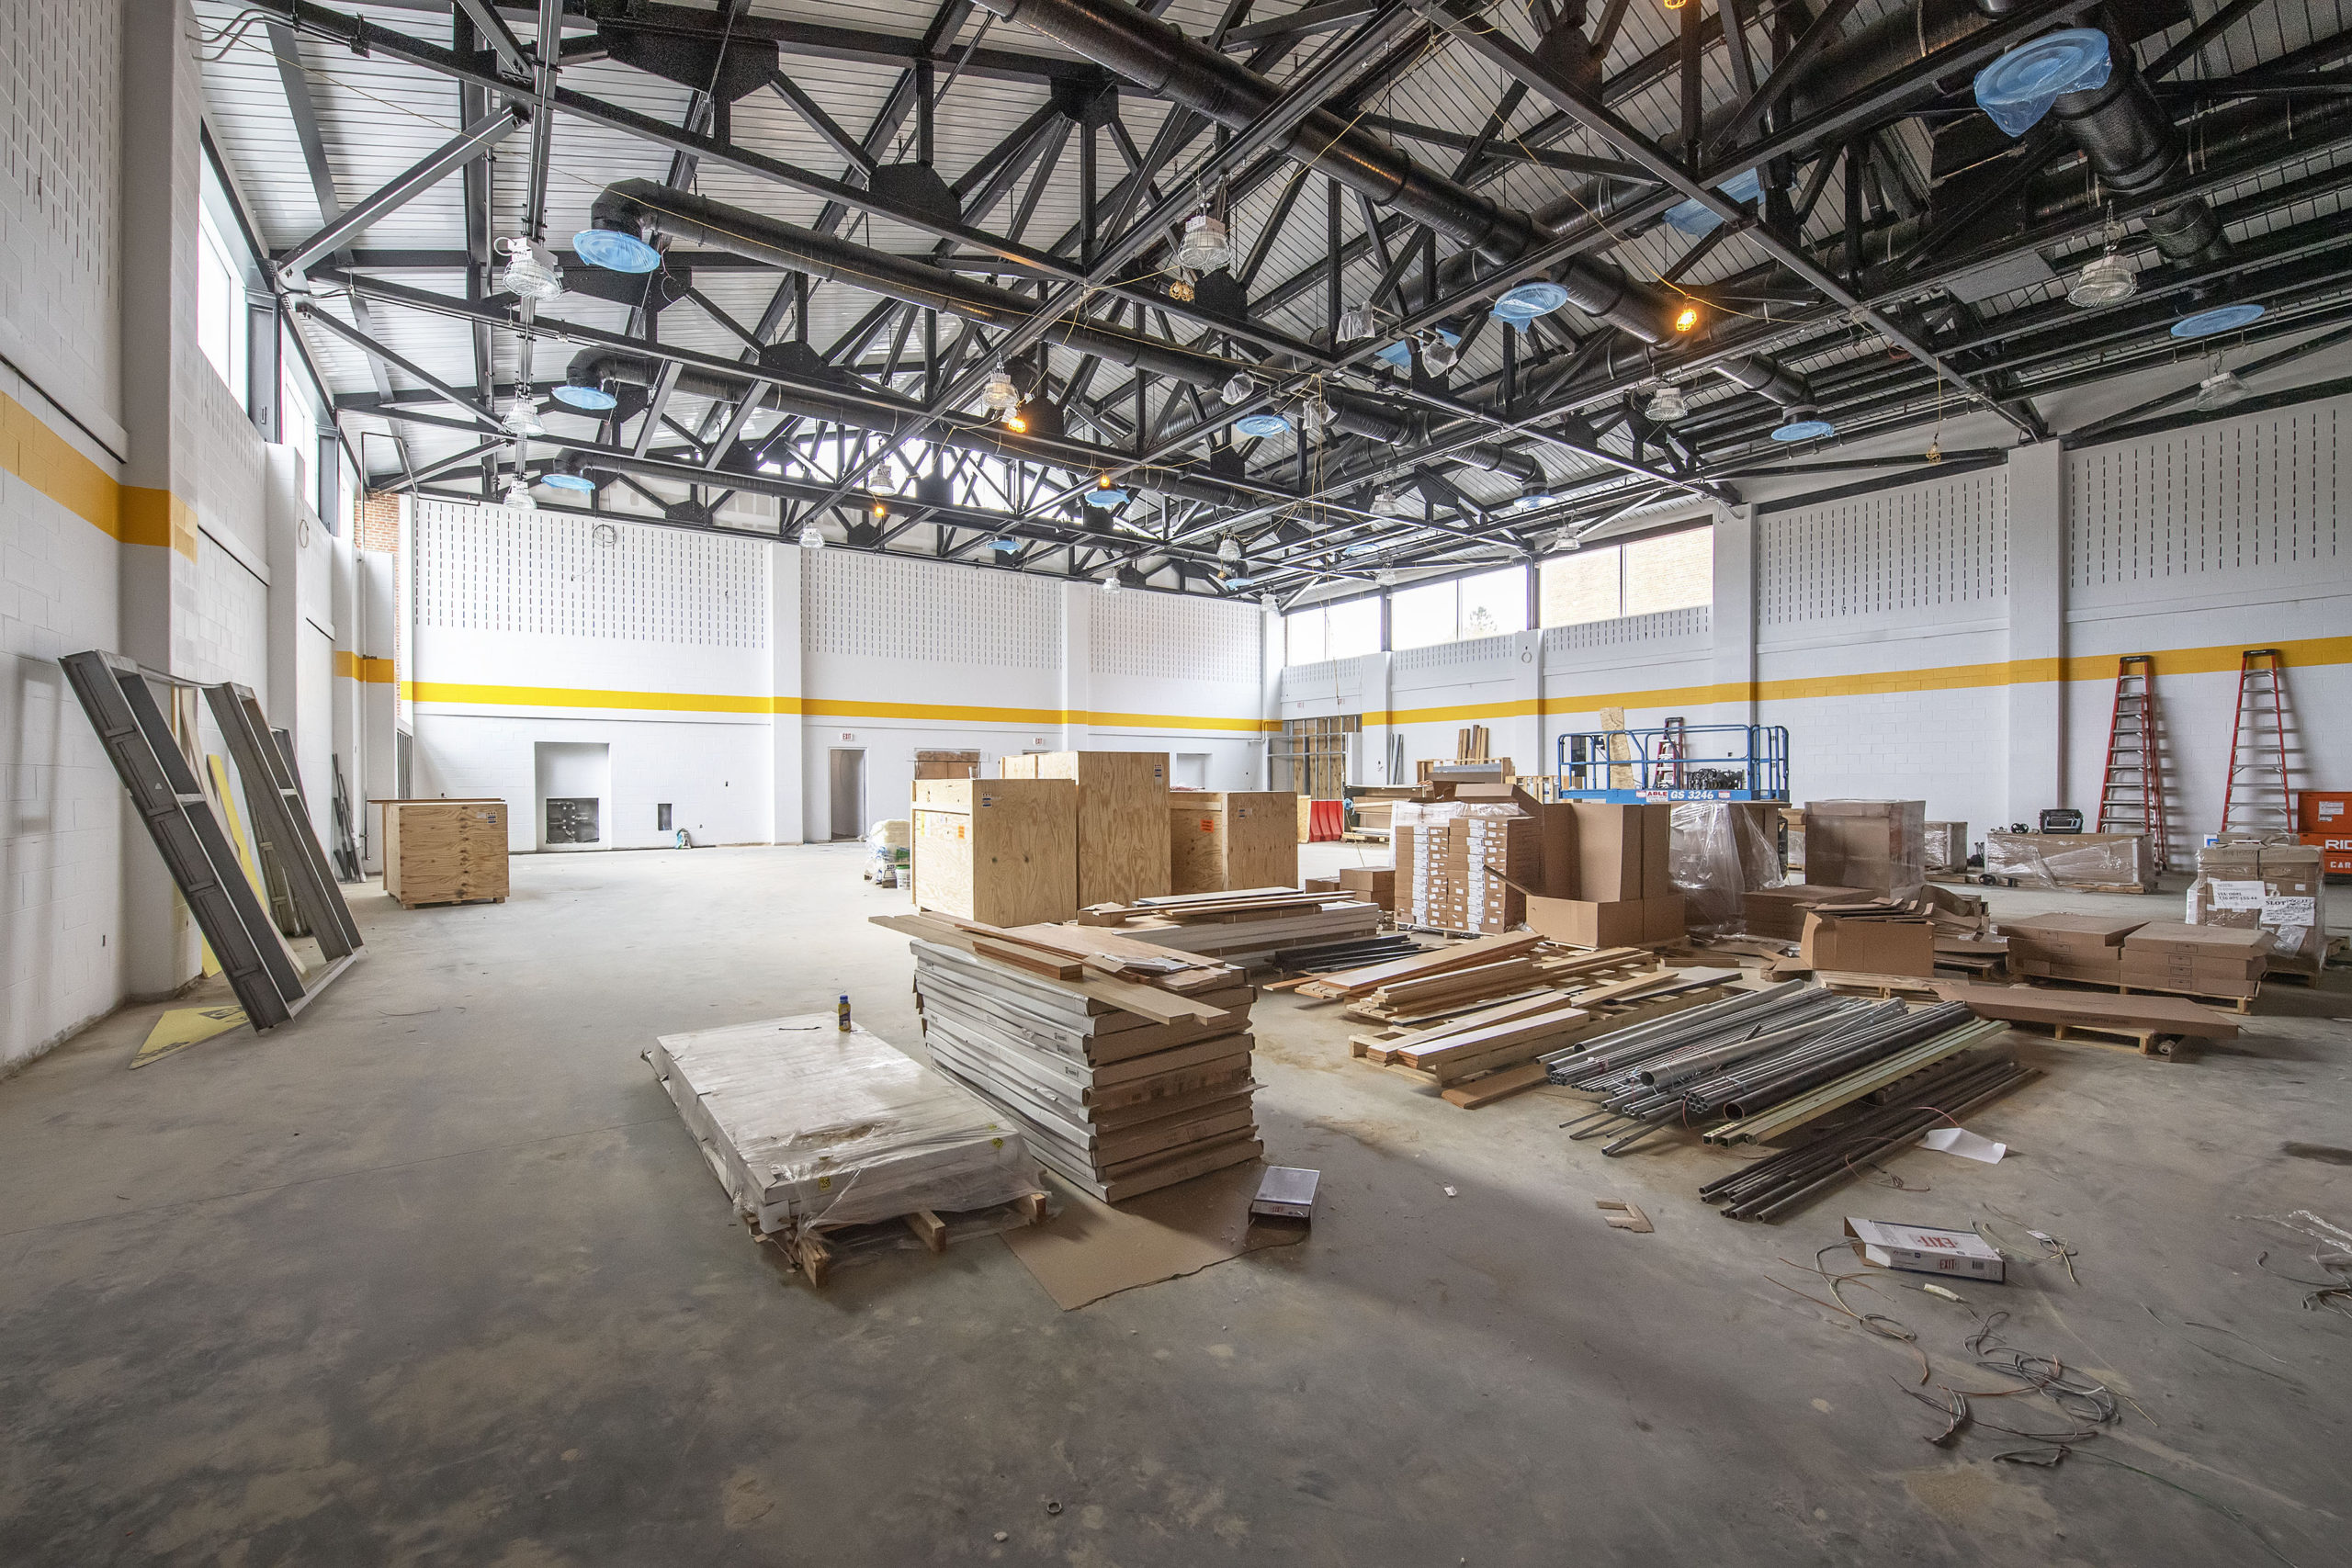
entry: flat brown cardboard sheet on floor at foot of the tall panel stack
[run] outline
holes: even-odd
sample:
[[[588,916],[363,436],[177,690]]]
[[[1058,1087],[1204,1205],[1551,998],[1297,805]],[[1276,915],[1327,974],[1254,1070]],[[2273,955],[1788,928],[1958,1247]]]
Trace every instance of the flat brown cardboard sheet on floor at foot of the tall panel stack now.
[[[1305,1225],[1249,1222],[1249,1199],[1263,1175],[1265,1164],[1251,1159],[1145,1192],[1117,1208],[1049,1175],[1061,1213],[1044,1225],[1004,1232],[1004,1246],[1037,1276],[1054,1305],[1070,1312],[1120,1291],[1200,1274],[1211,1262],[1305,1239]]]

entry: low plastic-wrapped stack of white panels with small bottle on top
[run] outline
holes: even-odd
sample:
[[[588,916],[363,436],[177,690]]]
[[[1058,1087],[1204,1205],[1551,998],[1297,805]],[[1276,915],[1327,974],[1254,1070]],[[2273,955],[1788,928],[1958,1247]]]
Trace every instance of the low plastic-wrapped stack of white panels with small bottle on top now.
[[[1009,1117],[833,1013],[663,1034],[647,1060],[762,1232],[988,1208],[1037,1185]]]

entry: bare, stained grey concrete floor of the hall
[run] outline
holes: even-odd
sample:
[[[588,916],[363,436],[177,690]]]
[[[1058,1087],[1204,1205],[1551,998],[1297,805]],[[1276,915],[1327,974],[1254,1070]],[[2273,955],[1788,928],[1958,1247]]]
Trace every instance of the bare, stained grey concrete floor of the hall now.
[[[1971,1119],[2004,1164],[1915,1150],[1922,1192],[1776,1227],[1698,1204],[1729,1157],[1602,1159],[1550,1093],[1458,1112],[1268,997],[1268,1152],[1324,1173],[1305,1246],[1080,1312],[993,1239],[814,1295],[637,1053],[837,992],[913,1046],[906,943],[863,924],[901,896],[858,865],[367,891],[367,961],[296,1027],[125,1072],[129,1009],[0,1084],[0,1563],[2352,1561],[2352,1324],[2246,1218],[2352,1225],[2345,973],[2190,1063],[2030,1044],[2049,1079]],[[1606,1229],[1611,1194],[1656,1234]],[[1973,1389],[1959,1340],[2009,1309],[2124,1422],[2060,1469],[1933,1448],[1915,1352],[1773,1284],[1820,1295],[1795,1265],[1844,1213],[2067,1237],[2079,1284],[1860,1302]],[[1978,1410],[2058,1422],[2025,1403]]]

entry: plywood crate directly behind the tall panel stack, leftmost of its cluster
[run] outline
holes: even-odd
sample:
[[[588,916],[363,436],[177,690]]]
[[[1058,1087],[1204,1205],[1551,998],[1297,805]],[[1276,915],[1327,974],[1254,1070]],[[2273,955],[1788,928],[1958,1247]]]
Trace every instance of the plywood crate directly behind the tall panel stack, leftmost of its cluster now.
[[[990,926],[1077,919],[1077,785],[917,778],[915,903]]]

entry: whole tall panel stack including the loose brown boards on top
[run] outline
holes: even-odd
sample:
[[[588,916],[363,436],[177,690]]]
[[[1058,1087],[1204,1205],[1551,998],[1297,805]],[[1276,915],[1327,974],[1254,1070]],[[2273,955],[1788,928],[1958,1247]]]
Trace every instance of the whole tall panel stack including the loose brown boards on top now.
[[[1120,1201],[1256,1159],[1242,971],[1096,926],[880,914],[908,933],[924,1044],[1073,1185]]]

